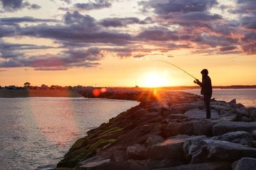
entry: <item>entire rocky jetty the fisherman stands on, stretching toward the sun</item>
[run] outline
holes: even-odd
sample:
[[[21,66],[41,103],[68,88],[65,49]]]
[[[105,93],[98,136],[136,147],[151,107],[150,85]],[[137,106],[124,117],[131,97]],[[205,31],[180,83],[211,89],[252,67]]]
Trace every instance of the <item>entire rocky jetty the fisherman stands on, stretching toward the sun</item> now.
[[[95,97],[92,91],[80,94]],[[256,168],[254,107],[212,100],[208,120],[202,97],[185,92],[108,90],[97,97],[140,104],[88,131],[56,169]]]

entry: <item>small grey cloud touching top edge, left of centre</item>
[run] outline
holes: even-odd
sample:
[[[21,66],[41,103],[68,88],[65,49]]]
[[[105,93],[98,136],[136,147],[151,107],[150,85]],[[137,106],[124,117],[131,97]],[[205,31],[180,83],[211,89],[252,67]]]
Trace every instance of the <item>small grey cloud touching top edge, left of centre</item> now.
[[[74,6],[78,10],[99,10],[102,8],[109,8],[111,6],[111,3],[109,3],[108,0],[95,0],[95,3],[89,2],[89,3],[76,3]]]

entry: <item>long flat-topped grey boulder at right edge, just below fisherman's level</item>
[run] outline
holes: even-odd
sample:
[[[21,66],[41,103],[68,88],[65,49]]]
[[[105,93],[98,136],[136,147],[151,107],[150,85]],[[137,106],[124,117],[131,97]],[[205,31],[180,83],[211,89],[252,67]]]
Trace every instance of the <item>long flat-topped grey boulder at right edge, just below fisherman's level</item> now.
[[[227,132],[246,131],[252,132],[256,129],[256,122],[229,122],[223,121],[215,124],[212,128],[212,135],[225,134]]]

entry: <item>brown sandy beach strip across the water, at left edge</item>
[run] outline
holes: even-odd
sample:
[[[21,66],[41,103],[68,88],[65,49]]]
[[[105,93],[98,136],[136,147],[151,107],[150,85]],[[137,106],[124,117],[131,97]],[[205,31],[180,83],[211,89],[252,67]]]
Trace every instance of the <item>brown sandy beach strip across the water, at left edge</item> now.
[[[83,97],[73,90],[0,90],[0,98],[18,97]]]

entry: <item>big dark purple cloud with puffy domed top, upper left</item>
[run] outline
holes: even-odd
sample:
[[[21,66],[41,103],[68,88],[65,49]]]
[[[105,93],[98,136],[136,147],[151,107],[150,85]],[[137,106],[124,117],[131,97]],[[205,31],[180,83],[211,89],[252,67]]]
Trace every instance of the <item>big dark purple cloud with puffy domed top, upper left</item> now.
[[[100,29],[95,19],[81,15],[77,11],[67,12],[65,25],[40,24],[20,29],[21,35],[56,39],[59,43],[109,43],[124,45],[129,43],[131,35],[118,31]]]

